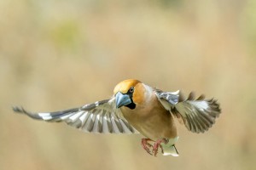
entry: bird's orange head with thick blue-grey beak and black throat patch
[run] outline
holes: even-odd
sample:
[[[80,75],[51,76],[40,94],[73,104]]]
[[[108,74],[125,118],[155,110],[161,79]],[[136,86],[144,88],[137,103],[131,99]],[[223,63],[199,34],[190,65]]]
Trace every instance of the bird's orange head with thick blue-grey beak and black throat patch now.
[[[119,82],[113,89],[116,107],[126,106],[135,109],[136,105],[143,100],[143,89],[143,83],[138,80],[129,79]]]

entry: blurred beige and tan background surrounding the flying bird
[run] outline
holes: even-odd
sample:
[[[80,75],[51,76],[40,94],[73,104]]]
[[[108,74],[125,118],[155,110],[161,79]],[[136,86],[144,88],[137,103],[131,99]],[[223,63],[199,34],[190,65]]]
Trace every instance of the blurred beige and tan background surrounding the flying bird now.
[[[253,0],[0,1],[0,169],[256,167]],[[179,157],[149,156],[140,135],[82,133],[13,113],[108,99],[137,78],[218,99],[204,134],[178,125]]]

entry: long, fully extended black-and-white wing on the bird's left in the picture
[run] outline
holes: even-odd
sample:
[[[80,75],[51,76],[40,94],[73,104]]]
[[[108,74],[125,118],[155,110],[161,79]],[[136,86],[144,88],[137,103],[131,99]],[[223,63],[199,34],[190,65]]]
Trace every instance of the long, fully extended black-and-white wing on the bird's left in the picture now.
[[[14,107],[13,110],[37,120],[66,122],[88,133],[137,133],[121,111],[115,108],[114,98],[66,111],[30,113],[19,107]]]

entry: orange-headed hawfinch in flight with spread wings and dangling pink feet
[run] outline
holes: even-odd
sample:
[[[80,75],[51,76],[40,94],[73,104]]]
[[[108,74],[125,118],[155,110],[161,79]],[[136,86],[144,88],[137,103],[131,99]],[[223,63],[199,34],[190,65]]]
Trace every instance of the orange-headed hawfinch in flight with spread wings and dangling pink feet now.
[[[66,122],[86,133],[141,133],[141,145],[148,154],[179,156],[176,122],[181,122],[192,133],[204,133],[221,113],[216,99],[205,99],[202,94],[188,98],[180,90],[165,92],[136,79],[119,82],[113,96],[78,108],[55,112],[26,111],[13,107],[17,113],[46,122]]]

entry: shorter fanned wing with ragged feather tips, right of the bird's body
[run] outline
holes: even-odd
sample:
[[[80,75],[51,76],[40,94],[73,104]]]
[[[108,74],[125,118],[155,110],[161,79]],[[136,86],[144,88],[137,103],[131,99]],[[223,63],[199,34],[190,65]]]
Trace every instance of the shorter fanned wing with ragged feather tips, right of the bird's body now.
[[[171,111],[177,118],[181,118],[193,133],[207,131],[221,112],[217,100],[205,99],[204,95],[195,99],[195,94],[190,93],[188,99],[184,99],[179,91],[166,93],[156,90],[155,94],[166,110]]]

